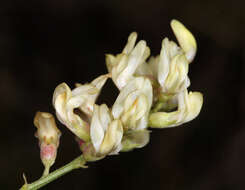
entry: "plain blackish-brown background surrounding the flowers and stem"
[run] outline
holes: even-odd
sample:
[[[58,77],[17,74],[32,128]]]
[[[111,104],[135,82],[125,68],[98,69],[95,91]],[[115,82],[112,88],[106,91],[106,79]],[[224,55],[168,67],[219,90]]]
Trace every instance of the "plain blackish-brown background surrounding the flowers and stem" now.
[[[245,13],[242,1],[1,1],[0,189],[18,189],[42,173],[33,117],[54,113],[54,88],[106,73],[104,54],[119,53],[130,32],[159,54],[169,23],[183,22],[198,52],[190,65],[190,90],[204,94],[197,119],[153,130],[143,149],[90,163],[43,189],[245,189]],[[175,40],[176,41],[176,40]],[[113,88],[112,88],[113,87]],[[117,91],[108,82],[99,103]],[[79,155],[60,123],[54,168]]]

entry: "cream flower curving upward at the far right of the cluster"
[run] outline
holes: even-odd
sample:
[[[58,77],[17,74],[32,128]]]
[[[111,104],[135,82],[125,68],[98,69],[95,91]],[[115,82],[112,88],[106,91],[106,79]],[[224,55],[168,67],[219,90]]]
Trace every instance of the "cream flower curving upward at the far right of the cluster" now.
[[[153,128],[175,127],[195,119],[201,111],[203,96],[199,92],[178,94],[178,110],[173,112],[156,112],[149,116],[149,126]]]

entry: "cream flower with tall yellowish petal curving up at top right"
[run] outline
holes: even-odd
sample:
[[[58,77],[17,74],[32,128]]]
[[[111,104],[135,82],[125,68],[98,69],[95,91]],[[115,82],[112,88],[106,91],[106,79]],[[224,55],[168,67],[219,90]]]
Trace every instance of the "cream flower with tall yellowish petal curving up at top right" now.
[[[188,68],[197,49],[195,38],[183,24],[173,20],[171,27],[180,47],[164,38],[160,55],[151,57],[149,63],[141,64],[136,70],[137,75],[158,81],[165,94],[179,93],[190,85]]]

